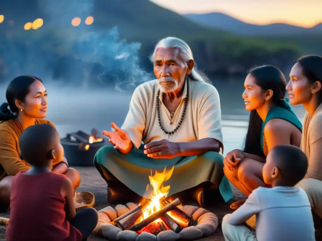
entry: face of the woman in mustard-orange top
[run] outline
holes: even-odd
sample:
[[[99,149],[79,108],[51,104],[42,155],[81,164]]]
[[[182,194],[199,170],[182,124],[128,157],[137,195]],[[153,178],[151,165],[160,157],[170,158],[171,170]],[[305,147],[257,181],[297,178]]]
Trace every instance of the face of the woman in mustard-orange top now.
[[[16,103],[19,114],[25,116],[43,119],[47,115],[47,91],[39,80],[35,80],[29,87],[29,93],[26,95],[25,101]],[[20,112],[20,110],[23,110]]]

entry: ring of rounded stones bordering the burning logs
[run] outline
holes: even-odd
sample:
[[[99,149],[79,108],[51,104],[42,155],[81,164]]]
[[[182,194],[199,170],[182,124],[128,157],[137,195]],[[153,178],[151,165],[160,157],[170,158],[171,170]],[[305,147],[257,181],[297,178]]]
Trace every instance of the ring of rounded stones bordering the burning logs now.
[[[157,236],[147,232],[138,235],[134,231],[122,231],[120,228],[111,224],[114,219],[135,207],[137,207],[137,204],[129,202],[126,205],[118,204],[115,209],[108,206],[99,210],[99,220],[93,232],[99,237],[104,237],[113,241],[175,241],[178,239],[195,240],[206,237],[213,234],[218,227],[218,218],[215,214],[203,208],[190,205],[178,206],[178,208],[192,216],[193,219],[197,221],[197,225],[184,228],[179,233],[175,233],[172,230],[166,230],[160,232]]]

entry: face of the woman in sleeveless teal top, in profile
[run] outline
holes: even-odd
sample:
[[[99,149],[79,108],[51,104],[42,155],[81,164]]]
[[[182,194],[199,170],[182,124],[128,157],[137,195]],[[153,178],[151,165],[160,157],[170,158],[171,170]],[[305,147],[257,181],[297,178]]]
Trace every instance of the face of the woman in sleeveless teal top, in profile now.
[[[255,77],[249,74],[244,82],[245,91],[242,98],[245,101],[246,111],[256,110],[265,103],[265,92],[255,83]]]

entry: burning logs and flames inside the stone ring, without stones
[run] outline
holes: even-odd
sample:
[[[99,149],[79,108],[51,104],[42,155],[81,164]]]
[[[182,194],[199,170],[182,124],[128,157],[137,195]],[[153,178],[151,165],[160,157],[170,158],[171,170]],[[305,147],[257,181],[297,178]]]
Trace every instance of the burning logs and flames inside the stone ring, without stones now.
[[[173,173],[174,167],[149,176],[153,188],[149,198],[144,198],[139,205],[113,220],[112,224],[121,230],[135,231],[137,234],[147,232],[158,235],[162,231],[172,230],[179,233],[184,228],[197,225],[192,216],[178,208],[181,201],[177,198],[170,202],[166,199],[170,186],[164,186]]]

